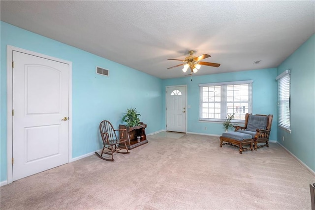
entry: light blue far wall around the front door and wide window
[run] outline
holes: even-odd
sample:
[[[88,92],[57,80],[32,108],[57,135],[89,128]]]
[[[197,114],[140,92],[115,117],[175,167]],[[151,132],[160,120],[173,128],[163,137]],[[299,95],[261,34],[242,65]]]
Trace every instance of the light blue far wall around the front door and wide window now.
[[[208,67],[201,67],[206,70]],[[211,67],[209,67],[211,68]],[[180,70],[180,69],[179,69]],[[218,69],[220,71],[220,68]],[[163,80],[163,128],[165,129],[165,90],[166,86],[187,85],[187,132],[221,135],[225,130],[222,123],[199,122],[199,86],[200,83],[253,80],[252,113],[273,114],[270,140],[277,140],[277,69],[249,70],[233,73],[218,73],[203,76],[181,77]],[[207,127],[207,130],[205,130]]]

